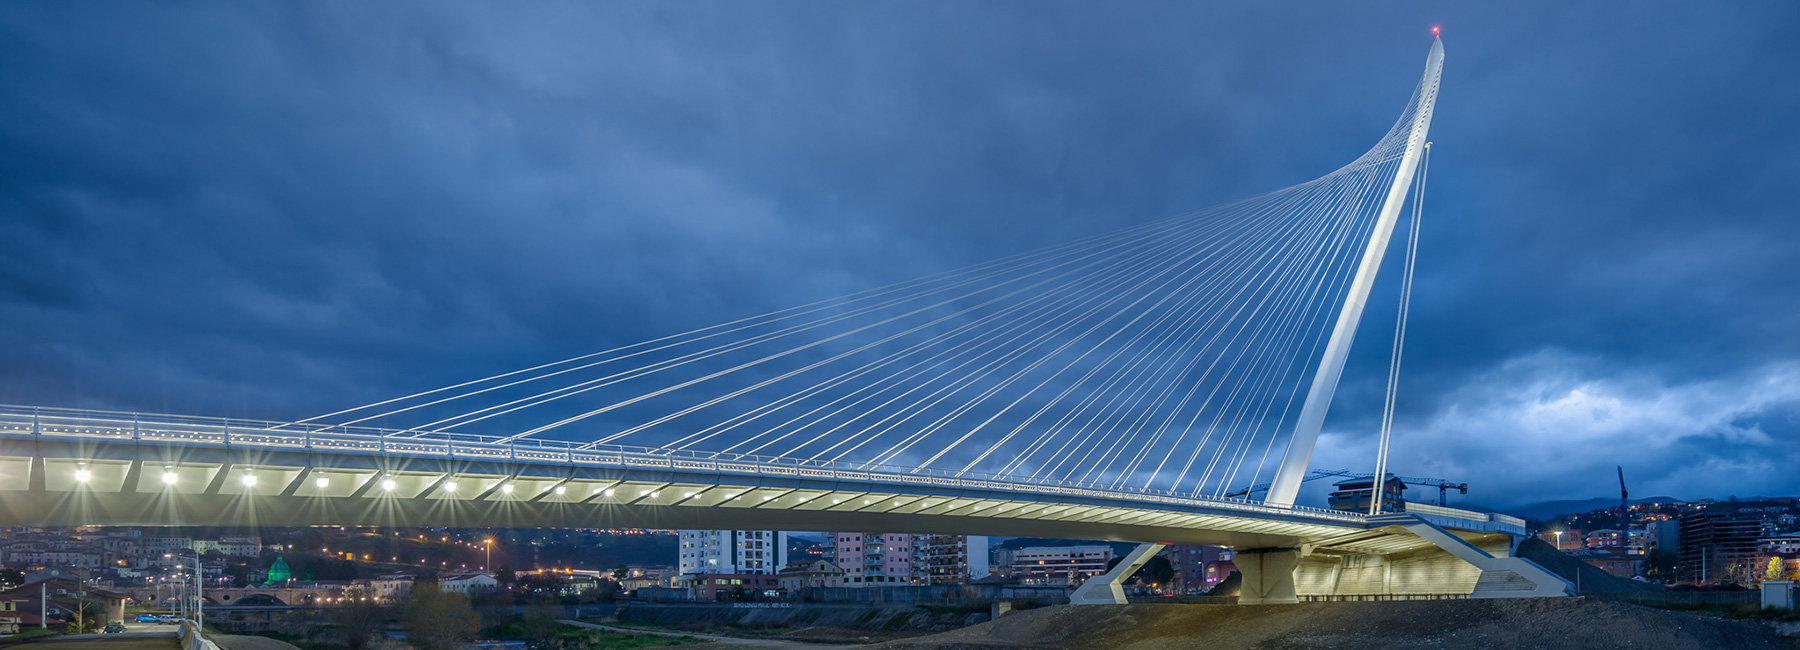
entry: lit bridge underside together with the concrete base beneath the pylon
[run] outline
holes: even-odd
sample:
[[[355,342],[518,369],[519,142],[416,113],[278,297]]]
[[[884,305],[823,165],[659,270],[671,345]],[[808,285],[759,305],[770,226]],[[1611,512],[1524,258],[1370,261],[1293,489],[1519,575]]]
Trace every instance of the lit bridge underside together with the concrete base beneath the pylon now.
[[[1361,517],[1093,490],[743,475],[693,466],[409,457],[121,439],[0,439],[0,526],[383,526],[907,531],[1213,544],[1244,603],[1557,596],[1514,522]],[[1148,556],[1143,556],[1145,560]],[[1116,592],[1116,591],[1114,591]]]

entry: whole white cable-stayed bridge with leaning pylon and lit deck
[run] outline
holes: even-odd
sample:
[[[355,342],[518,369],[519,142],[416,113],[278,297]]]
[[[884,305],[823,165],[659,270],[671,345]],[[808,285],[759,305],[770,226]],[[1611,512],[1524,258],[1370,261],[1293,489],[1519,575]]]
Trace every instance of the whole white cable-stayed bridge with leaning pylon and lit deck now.
[[[1235,547],[1247,603],[1564,594],[1510,517],[1294,504],[1442,59],[1350,164],[1193,214],[301,421],[0,409],[0,524],[1076,537],[1145,544],[1078,601],[1166,542]]]

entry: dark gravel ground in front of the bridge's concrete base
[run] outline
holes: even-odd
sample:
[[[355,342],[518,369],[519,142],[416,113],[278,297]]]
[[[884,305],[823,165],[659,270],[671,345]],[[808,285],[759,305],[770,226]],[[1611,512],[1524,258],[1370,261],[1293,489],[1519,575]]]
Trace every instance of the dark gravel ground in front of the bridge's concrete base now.
[[[1411,650],[1771,648],[1800,650],[1760,621],[1588,600],[1438,600],[1301,605],[1089,605],[893,641],[891,650]]]

